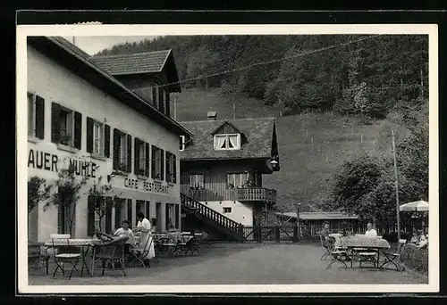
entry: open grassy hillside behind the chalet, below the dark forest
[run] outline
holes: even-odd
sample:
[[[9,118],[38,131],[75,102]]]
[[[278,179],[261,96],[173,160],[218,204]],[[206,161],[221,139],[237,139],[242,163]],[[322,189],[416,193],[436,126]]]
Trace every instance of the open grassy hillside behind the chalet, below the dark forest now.
[[[207,111],[216,111],[218,119],[232,119],[232,102],[220,96],[219,89],[185,89],[177,99],[179,121],[206,120]],[[279,117],[277,109],[256,99],[238,99],[236,111],[236,118]],[[356,153],[389,150],[391,127],[386,121],[358,126],[355,120],[331,113],[278,118],[281,170],[264,176],[264,186],[278,191],[280,210],[295,210],[294,203],[303,202],[302,210],[311,211],[324,197],[342,161]]]

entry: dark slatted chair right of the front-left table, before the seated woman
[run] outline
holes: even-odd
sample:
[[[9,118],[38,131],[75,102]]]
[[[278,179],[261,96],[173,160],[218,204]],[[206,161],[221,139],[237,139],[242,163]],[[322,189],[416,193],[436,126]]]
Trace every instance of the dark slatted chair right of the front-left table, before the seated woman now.
[[[93,246],[91,273],[90,276],[95,275],[95,269],[102,270],[102,275],[105,275],[105,270],[115,270],[115,263],[119,263],[122,269],[122,274],[126,276],[124,271],[124,243],[129,237],[118,237],[110,242],[97,243]],[[97,263],[102,264],[102,268],[96,268]]]

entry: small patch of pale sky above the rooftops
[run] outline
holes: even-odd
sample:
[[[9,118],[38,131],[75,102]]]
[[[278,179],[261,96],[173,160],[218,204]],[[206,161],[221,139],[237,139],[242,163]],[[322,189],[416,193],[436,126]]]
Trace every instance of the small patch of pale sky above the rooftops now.
[[[113,45],[120,45],[126,42],[139,42],[145,39],[154,39],[156,36],[77,36],[74,39],[75,45],[89,55],[110,48]],[[73,37],[64,37],[73,42]]]

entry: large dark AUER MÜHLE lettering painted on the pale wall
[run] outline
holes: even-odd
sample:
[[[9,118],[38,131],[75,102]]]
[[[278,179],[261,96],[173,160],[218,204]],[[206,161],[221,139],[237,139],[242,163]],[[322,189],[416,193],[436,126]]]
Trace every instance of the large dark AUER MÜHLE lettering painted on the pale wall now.
[[[34,151],[30,149],[28,154],[28,167],[32,169],[45,169],[58,172],[61,168],[60,163],[66,164],[66,168],[72,167],[76,176],[96,177],[97,164],[93,161],[84,161],[76,158],[60,158],[57,154]]]

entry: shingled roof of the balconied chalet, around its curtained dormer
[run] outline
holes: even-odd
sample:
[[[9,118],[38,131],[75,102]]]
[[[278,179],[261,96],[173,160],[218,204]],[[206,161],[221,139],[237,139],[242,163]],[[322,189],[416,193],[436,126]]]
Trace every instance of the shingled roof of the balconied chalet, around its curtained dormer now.
[[[225,160],[271,158],[274,122],[267,119],[227,120],[245,135],[246,141],[237,151],[215,151],[211,133],[225,120],[181,122],[194,135],[192,144],[180,152],[181,160]]]

